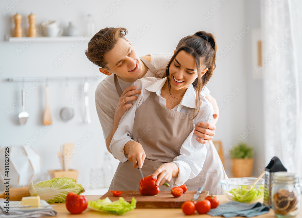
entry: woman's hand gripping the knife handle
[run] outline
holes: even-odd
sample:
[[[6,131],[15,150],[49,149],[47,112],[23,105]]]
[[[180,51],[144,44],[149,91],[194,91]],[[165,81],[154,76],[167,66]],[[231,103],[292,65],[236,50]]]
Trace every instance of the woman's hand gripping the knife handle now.
[[[136,162],[138,162],[139,168],[143,167],[146,153],[140,143],[135,141],[127,142],[124,146],[124,154],[128,155],[128,159],[133,163],[133,167],[137,167]]]

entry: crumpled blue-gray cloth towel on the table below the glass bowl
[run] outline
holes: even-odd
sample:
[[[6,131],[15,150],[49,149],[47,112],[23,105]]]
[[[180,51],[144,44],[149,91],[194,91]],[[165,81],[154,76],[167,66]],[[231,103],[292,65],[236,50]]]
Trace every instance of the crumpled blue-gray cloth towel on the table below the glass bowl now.
[[[223,217],[253,217],[268,213],[269,210],[269,207],[264,206],[259,202],[254,204],[244,204],[236,201],[230,201],[228,203],[218,205],[217,208],[211,209],[207,214],[210,216]]]

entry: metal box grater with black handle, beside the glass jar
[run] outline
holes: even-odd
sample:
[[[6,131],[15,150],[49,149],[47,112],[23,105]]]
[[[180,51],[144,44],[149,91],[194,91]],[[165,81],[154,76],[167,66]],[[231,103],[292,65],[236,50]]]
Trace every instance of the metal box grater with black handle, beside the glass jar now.
[[[287,172],[287,169],[282,165],[278,157],[273,157],[269,164],[265,167],[265,184],[264,184],[264,199],[263,204],[268,207],[272,206],[271,203],[271,187],[273,183],[273,176],[275,172]]]

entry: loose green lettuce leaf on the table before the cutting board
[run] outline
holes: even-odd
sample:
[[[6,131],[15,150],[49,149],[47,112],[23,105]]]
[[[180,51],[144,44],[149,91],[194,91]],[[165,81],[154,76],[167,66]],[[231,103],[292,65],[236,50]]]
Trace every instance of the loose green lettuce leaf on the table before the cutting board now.
[[[119,200],[111,201],[108,197],[101,200],[88,200],[89,210],[94,210],[98,212],[112,213],[115,215],[122,215],[127,211],[133,210],[136,207],[136,200],[133,197],[131,204],[129,204],[123,197],[120,197]]]

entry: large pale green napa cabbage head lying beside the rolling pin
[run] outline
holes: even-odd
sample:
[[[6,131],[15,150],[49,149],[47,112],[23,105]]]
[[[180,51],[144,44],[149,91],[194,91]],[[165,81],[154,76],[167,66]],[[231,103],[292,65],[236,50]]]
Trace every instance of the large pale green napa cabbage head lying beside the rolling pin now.
[[[68,177],[53,178],[46,181],[31,183],[29,193],[31,196],[40,196],[40,199],[48,203],[65,202],[69,192],[79,193],[83,190],[81,184],[77,184],[75,179]]]

